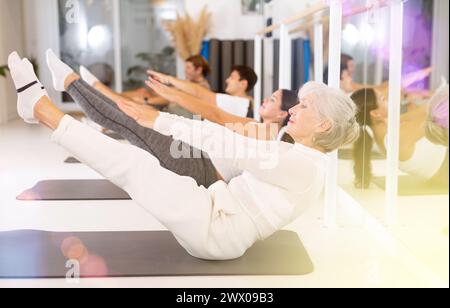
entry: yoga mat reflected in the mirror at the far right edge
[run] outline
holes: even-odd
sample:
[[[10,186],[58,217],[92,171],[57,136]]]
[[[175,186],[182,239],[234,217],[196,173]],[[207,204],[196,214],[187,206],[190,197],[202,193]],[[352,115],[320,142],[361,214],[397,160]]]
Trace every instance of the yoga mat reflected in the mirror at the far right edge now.
[[[375,177],[373,183],[381,189],[386,188],[385,177]],[[426,181],[414,176],[399,177],[398,194],[400,196],[432,196],[432,195],[448,195],[448,186],[440,183]]]

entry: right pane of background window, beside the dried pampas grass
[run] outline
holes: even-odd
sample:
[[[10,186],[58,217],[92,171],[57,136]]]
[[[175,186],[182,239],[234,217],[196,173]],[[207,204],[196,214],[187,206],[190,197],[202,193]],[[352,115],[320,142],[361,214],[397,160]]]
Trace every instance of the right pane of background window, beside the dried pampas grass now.
[[[120,1],[124,91],[143,87],[149,68],[177,74],[175,49],[165,26],[176,20],[181,8],[180,0]]]

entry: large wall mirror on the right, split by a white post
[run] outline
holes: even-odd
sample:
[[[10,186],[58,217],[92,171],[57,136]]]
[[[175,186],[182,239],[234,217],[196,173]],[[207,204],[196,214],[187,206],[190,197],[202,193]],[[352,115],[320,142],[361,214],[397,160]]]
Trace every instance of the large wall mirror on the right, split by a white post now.
[[[448,1],[404,3],[397,224],[389,231],[448,281]],[[447,13],[448,14],[448,13]],[[448,16],[448,15],[447,15]],[[339,184],[384,221],[389,117],[389,8],[344,19],[341,88],[359,108],[361,137],[340,150]],[[448,40],[448,39],[447,39]],[[443,73],[444,72],[444,73]],[[439,74],[439,75],[437,75]],[[441,82],[433,82],[441,80]]]

